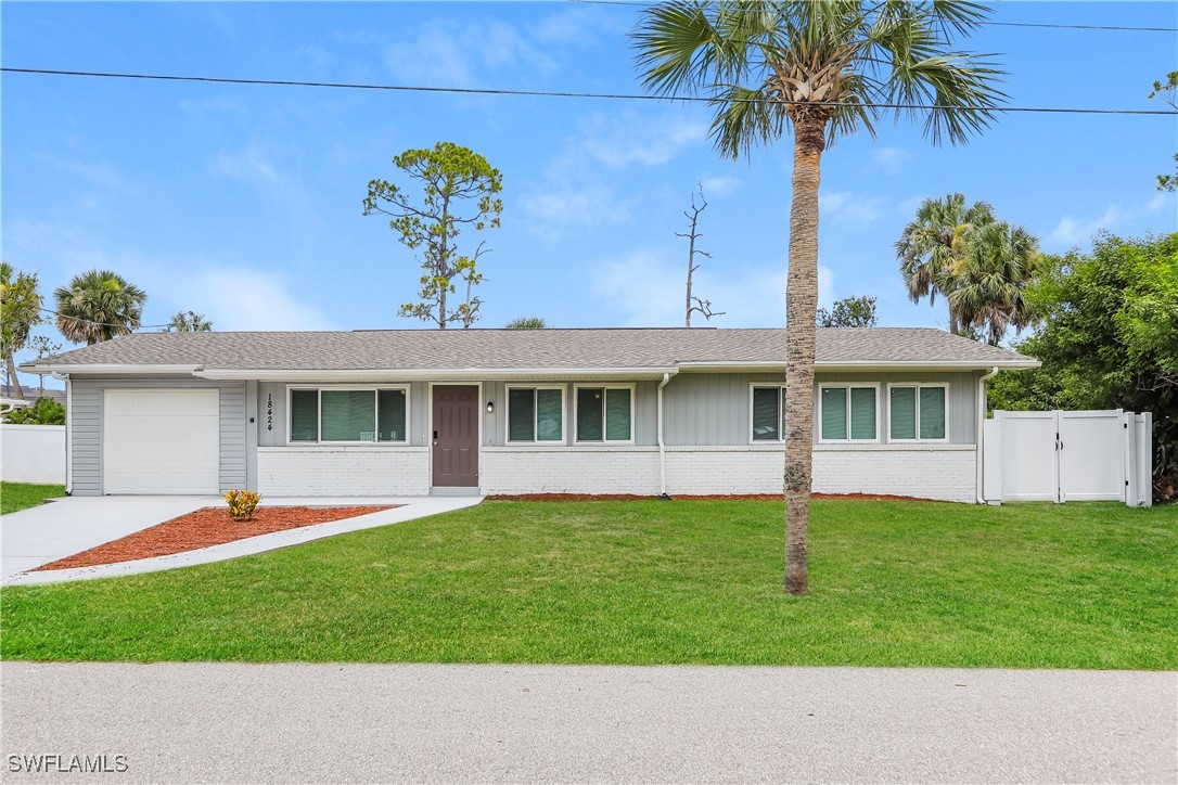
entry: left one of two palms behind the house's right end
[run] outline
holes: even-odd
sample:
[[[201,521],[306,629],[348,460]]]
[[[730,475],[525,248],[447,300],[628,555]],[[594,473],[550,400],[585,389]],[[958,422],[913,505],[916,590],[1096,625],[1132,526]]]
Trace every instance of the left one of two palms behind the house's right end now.
[[[895,244],[908,299],[920,302],[927,297],[929,305],[937,305],[937,295],[940,294],[948,301],[949,293],[958,286],[969,237],[994,220],[993,207],[985,201],[966,206],[965,194],[961,193],[920,202],[915,220],[904,227],[904,234]],[[961,332],[961,320],[952,302],[949,332]]]

